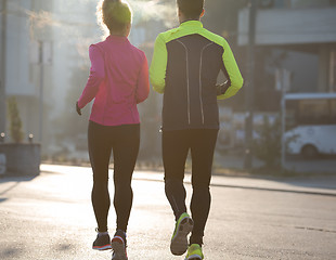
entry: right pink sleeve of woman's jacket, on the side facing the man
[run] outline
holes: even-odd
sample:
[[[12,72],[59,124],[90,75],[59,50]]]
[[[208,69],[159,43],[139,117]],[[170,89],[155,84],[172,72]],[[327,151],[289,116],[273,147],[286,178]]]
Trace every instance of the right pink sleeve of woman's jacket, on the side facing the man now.
[[[137,104],[145,101],[148,96],[148,93],[150,93],[148,64],[145,54],[143,54],[143,62],[137,84]]]

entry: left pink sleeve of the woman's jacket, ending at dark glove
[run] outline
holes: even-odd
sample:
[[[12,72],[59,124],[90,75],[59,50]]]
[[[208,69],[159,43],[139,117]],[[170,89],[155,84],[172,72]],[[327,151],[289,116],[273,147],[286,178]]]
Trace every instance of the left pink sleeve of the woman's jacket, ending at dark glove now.
[[[105,78],[104,56],[101,50],[94,44],[90,46],[89,56],[91,61],[90,76],[78,100],[79,108],[85,107],[95,98],[99,87]]]

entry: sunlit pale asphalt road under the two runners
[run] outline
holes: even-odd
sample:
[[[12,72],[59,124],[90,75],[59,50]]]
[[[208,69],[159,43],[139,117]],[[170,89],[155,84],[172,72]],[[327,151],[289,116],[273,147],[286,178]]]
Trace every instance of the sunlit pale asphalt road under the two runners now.
[[[41,170],[35,178],[0,178],[0,259],[111,259],[111,251],[91,249],[90,168],[42,165]],[[336,259],[334,180],[314,185],[214,177],[205,259]],[[129,259],[184,259],[169,251],[175,221],[163,173],[135,172],[132,186]],[[190,195],[191,185],[186,188]],[[113,230],[114,208],[108,220]]]

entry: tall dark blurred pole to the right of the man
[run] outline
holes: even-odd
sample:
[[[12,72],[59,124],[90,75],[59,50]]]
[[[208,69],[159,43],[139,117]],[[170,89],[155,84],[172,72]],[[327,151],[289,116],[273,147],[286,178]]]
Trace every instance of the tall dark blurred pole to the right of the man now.
[[[255,94],[255,43],[256,43],[257,0],[249,1],[248,23],[248,62],[246,89],[246,118],[245,118],[245,161],[244,168],[253,167],[253,132],[254,132],[254,94]]]

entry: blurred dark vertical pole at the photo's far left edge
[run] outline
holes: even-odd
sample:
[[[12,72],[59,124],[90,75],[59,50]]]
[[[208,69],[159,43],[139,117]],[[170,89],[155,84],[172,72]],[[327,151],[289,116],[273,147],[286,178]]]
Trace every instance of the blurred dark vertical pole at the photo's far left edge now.
[[[1,68],[0,68],[0,133],[5,132],[5,49],[7,49],[7,0],[1,9]]]

